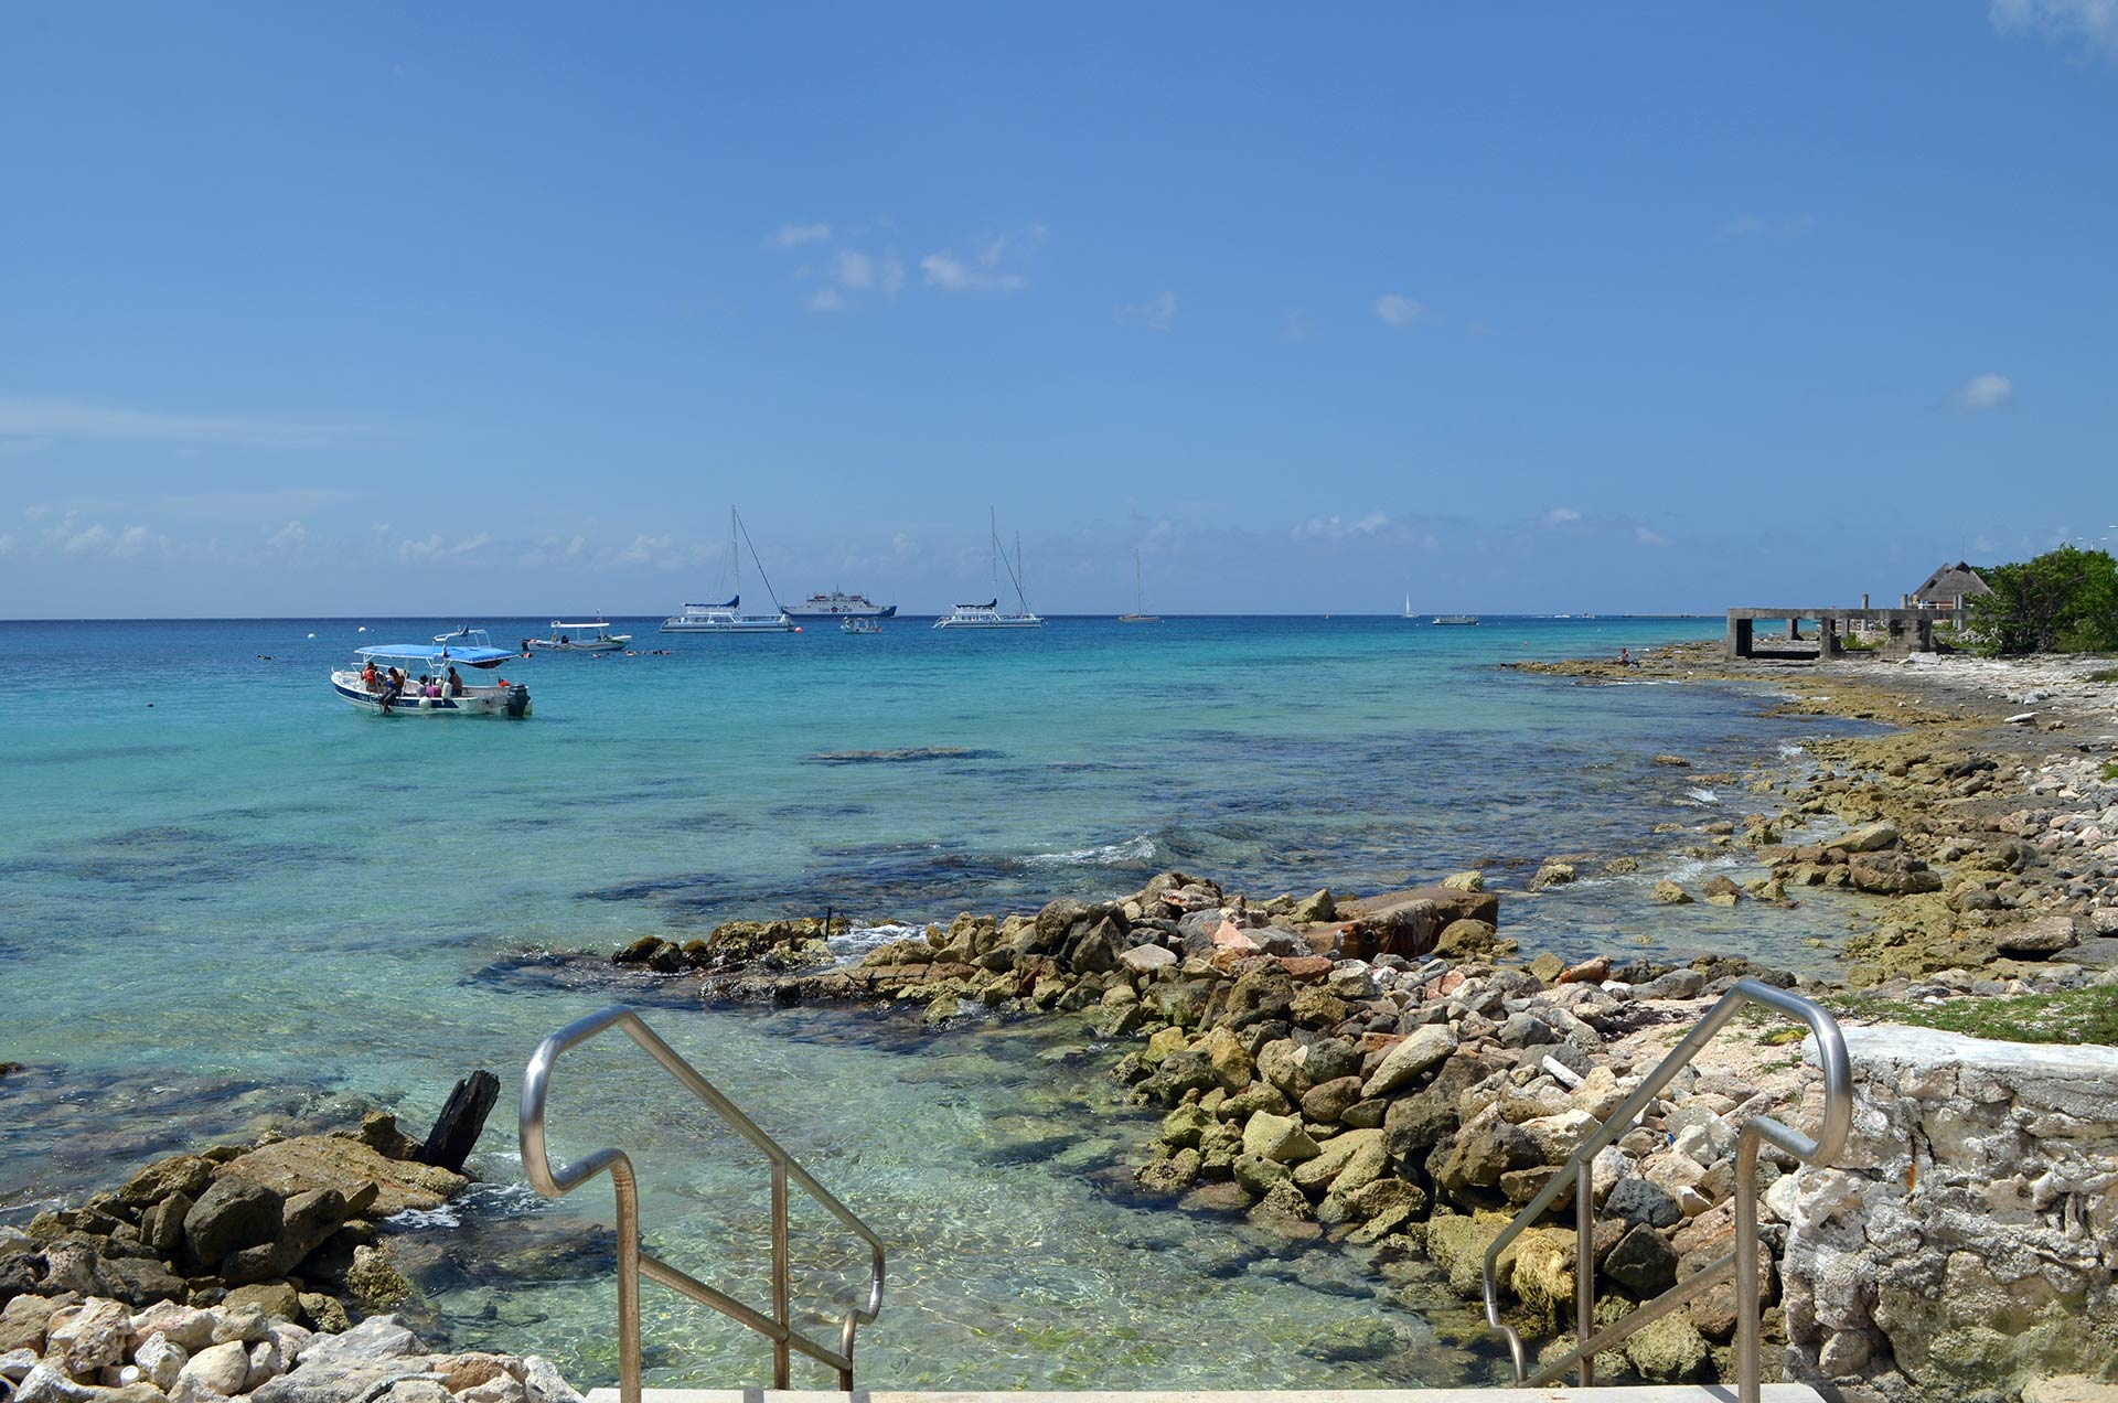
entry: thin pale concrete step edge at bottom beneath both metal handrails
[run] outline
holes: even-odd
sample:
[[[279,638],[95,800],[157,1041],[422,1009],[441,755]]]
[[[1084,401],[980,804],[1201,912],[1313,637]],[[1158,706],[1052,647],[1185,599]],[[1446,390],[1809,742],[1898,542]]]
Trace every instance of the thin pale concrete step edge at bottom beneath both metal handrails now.
[[[856,1388],[851,1403],[1735,1403],[1735,1384],[1625,1388],[1277,1388],[1277,1390],[1142,1390],[1142,1392],[900,1392]],[[618,1403],[616,1388],[589,1392],[589,1403]],[[640,1403],[845,1403],[837,1390],[792,1388],[642,1388]],[[1807,1384],[1766,1384],[1762,1403],[1824,1403]]]

